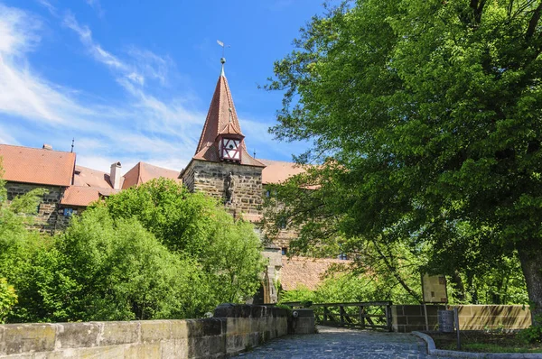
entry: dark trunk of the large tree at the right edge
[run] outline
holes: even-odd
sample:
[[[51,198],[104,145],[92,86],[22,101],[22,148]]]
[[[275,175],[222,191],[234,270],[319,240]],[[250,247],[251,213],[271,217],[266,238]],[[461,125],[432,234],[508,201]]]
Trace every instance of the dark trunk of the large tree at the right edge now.
[[[531,244],[518,249],[518,253],[521,270],[527,282],[533,325],[542,325],[541,320],[536,320],[537,315],[542,315],[542,248]]]

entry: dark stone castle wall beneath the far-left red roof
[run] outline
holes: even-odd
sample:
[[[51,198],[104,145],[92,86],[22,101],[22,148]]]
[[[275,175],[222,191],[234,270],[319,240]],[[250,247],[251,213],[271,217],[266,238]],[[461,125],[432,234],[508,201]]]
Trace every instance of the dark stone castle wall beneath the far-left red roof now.
[[[54,232],[60,229],[59,226],[61,226],[61,223],[59,223],[59,220],[61,222],[64,221],[63,216],[58,213],[59,203],[64,193],[63,187],[7,182],[5,189],[7,190],[8,200],[28,193],[33,189],[47,189],[48,193],[42,196],[38,213],[33,217],[31,228],[37,229],[40,232]]]

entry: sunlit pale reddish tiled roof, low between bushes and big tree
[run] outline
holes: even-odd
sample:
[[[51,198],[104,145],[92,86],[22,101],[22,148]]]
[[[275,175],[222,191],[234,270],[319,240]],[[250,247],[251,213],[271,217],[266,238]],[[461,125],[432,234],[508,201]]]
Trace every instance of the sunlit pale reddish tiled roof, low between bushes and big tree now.
[[[288,259],[283,255],[283,267],[280,270],[280,284],[283,290],[296,290],[304,286],[309,290],[316,290],[325,279],[326,271],[332,264],[349,264],[350,261],[339,259],[316,259],[293,257]]]

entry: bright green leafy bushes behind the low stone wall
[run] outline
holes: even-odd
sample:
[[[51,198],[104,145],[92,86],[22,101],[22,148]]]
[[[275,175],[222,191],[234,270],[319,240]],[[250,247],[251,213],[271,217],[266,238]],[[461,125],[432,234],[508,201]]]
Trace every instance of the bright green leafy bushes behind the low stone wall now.
[[[7,201],[0,183],[0,321],[200,318],[260,284],[253,226],[173,180],[96,203],[55,236],[27,228],[42,193]]]

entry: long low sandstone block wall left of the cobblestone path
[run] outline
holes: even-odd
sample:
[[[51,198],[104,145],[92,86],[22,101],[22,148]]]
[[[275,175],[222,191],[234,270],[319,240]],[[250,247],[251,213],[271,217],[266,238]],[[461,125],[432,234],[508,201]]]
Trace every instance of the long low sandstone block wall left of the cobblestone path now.
[[[287,333],[287,312],[219,306],[215,318],[8,324],[0,358],[222,358]]]

